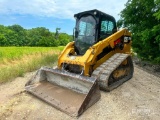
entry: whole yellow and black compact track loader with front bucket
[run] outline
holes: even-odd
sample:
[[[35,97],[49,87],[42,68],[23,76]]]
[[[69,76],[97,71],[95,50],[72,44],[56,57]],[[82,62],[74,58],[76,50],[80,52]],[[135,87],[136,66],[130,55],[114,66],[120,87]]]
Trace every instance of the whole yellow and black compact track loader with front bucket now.
[[[117,31],[114,17],[99,10],[74,15],[74,41],[58,57],[56,68],[42,67],[25,89],[71,116],[79,116],[133,75],[131,33]]]

